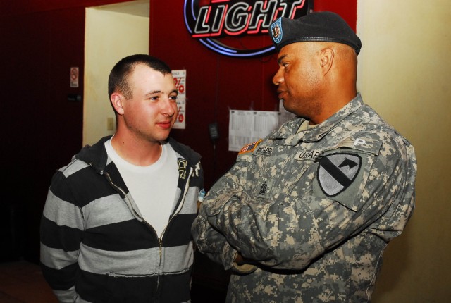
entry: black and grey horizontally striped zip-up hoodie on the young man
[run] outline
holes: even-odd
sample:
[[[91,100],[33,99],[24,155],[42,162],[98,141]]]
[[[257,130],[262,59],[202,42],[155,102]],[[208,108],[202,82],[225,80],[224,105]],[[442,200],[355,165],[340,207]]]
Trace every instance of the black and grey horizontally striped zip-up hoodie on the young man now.
[[[187,156],[199,161],[194,153]],[[203,183],[200,166],[196,175],[179,178],[180,201],[159,247],[154,229],[137,216],[139,210],[107,158],[103,141],[77,157],[54,174],[41,221],[42,272],[58,299],[190,302],[190,228],[201,186],[194,183]],[[107,159],[108,164],[87,164],[94,159]]]

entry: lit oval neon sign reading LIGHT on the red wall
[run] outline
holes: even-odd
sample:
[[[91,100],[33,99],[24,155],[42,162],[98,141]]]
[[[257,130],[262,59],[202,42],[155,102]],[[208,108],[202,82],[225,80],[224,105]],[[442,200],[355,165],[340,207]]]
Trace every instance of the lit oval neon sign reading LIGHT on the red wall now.
[[[279,17],[299,18],[312,8],[313,0],[185,0],[185,25],[191,37],[226,56],[249,58],[275,51],[252,39],[268,36],[268,27]],[[250,46],[245,45],[249,40]],[[254,40],[255,41],[255,40]],[[255,47],[254,45],[258,45]]]

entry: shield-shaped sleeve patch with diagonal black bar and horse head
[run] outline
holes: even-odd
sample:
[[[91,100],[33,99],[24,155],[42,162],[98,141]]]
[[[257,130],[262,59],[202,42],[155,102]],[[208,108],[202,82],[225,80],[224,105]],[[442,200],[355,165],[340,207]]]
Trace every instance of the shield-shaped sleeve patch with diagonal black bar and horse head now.
[[[321,190],[334,197],[349,187],[359,173],[362,158],[356,154],[330,154],[323,156],[318,166]]]

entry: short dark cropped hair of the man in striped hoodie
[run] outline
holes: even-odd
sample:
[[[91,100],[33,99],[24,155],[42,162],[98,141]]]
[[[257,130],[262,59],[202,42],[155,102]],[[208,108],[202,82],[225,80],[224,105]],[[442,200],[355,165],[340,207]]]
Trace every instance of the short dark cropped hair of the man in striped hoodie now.
[[[132,73],[133,68],[138,64],[149,66],[153,70],[159,71],[163,75],[171,73],[171,68],[161,61],[145,54],[136,54],[122,58],[111,70],[108,78],[108,96],[111,97],[113,92],[121,92],[126,99],[133,97],[132,89],[128,83],[128,76]]]

